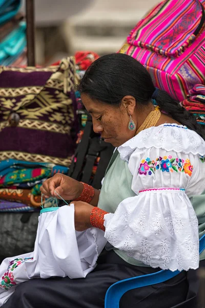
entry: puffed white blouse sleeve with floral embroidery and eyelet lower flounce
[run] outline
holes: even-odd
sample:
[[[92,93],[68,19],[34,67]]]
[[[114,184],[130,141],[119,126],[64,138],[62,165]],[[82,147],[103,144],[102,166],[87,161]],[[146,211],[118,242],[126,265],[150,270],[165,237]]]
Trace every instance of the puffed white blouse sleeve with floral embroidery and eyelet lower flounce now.
[[[114,214],[105,215],[106,239],[152,267],[196,269],[198,220],[189,197],[204,189],[200,183],[205,164],[198,155],[153,147],[136,149],[128,166],[137,196],[123,200]]]

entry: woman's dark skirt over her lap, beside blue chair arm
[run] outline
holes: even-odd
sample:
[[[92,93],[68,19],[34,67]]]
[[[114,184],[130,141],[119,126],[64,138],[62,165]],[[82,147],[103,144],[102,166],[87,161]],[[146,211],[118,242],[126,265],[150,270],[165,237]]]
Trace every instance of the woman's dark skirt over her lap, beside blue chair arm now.
[[[116,281],[159,271],[130,265],[113,251],[104,251],[86,278],[53,277],[21,283],[3,308],[104,308],[109,286]],[[120,308],[196,308],[198,283],[195,271],[155,285],[128,291]],[[194,301],[193,301],[194,299]]]

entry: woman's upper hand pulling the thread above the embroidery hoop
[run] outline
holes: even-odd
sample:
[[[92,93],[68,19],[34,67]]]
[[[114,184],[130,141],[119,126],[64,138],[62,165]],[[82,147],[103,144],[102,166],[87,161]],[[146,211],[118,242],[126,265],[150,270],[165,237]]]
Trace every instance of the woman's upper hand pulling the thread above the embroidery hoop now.
[[[62,174],[56,174],[52,178],[46,180],[40,187],[40,191],[46,198],[52,196],[58,199],[74,200],[78,198],[83,191],[83,184]],[[54,190],[60,196],[55,194]]]

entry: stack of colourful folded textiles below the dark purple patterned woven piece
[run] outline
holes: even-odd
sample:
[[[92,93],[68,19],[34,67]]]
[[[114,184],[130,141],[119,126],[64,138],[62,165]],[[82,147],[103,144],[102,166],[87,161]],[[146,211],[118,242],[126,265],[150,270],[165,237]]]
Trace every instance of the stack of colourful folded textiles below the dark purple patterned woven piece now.
[[[41,205],[40,186],[54,174],[68,173],[68,167],[9,159],[0,162],[0,211],[34,211]],[[19,205],[5,201],[21,202]],[[25,205],[23,206],[22,205]],[[2,206],[3,204],[3,206]]]

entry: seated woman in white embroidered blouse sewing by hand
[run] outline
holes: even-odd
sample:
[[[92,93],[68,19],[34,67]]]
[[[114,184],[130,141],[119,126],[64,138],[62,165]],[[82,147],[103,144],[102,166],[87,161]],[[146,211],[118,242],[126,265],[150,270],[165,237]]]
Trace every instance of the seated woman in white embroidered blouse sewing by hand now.
[[[58,174],[42,192],[73,200],[75,229],[103,229],[106,247],[86,278],[24,282],[3,307],[103,308],[111,284],[160,269],[181,273],[127,292],[120,308],[178,307],[196,296],[188,270],[199,266],[205,229],[204,131],[125,54],[96,60],[79,91],[94,131],[116,147],[103,187]]]

